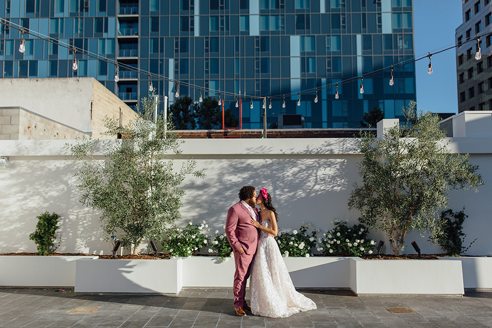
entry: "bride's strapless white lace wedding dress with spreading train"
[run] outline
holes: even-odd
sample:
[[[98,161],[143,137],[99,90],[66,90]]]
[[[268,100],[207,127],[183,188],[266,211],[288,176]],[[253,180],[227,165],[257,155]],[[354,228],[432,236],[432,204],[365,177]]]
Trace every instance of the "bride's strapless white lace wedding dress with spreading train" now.
[[[261,222],[270,228],[270,221]],[[261,231],[250,277],[251,312],[256,316],[286,318],[299,311],[316,309],[316,304],[296,292],[277,242]]]

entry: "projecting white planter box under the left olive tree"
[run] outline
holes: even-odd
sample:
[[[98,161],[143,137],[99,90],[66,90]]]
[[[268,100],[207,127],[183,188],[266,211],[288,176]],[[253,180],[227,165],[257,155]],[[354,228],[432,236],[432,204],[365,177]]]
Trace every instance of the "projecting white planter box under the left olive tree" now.
[[[182,260],[80,259],[76,293],[177,294],[182,288]]]

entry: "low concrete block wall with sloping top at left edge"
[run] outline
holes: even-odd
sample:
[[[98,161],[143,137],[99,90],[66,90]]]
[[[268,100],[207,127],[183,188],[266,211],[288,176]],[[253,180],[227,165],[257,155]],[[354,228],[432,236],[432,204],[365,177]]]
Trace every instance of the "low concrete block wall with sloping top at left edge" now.
[[[75,139],[87,134],[22,107],[0,108],[0,140]]]

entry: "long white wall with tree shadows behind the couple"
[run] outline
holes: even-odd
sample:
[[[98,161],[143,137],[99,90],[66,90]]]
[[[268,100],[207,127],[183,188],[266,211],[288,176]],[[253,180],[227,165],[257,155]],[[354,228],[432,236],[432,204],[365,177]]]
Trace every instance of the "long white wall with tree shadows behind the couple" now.
[[[492,253],[492,141],[490,138],[453,138],[453,151],[470,153],[471,162],[480,166],[485,185],[478,193],[452,191],[449,206],[455,211],[465,207],[469,216],[464,223],[465,243],[477,241],[469,254]],[[114,142],[101,141],[101,144]],[[206,179],[188,177],[182,187],[182,221],[206,220],[211,232],[223,231],[228,208],[238,201],[243,185],[267,188],[279,214],[280,229],[299,228],[303,221],[321,230],[332,229],[334,219],[355,224],[359,213],[348,211],[347,199],[353,183],[359,181],[351,138],[315,139],[190,139],[182,146],[182,158],[194,157],[199,168],[206,168]],[[36,216],[44,211],[61,215],[59,252],[110,252],[104,241],[98,213],[83,206],[73,174],[80,163],[65,159],[68,154],[62,140],[0,141],[0,156],[9,156],[7,168],[0,170],[0,253],[36,250],[29,234]],[[103,158],[104,147],[97,153]],[[177,158],[179,166],[182,159]],[[371,231],[372,239],[384,238]],[[406,253],[414,253],[410,243],[416,240],[422,253],[440,253],[439,248],[417,233],[406,238]],[[388,243],[386,242],[386,245]],[[387,253],[391,253],[387,249]]]

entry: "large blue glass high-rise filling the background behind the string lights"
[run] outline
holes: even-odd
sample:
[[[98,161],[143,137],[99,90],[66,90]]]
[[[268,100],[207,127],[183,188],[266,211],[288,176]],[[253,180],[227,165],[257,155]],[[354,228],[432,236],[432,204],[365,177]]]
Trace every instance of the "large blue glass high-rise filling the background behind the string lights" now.
[[[401,117],[416,98],[413,63],[394,69],[393,86],[389,71],[368,74],[414,57],[412,0],[6,0],[0,13],[126,65],[115,82],[113,64],[75,53],[73,71],[71,50],[29,35],[19,53],[21,33],[2,24],[0,77],[92,76],[129,105],[149,94],[149,76],[129,66],[178,80],[179,94],[195,100],[200,90],[187,84],[204,97],[218,97],[209,89],[278,96],[267,106],[268,126],[279,114],[302,114],[304,128],[359,127],[364,112]],[[176,84],[152,83],[174,101]],[[298,96],[304,90],[312,91]],[[234,97],[225,100],[238,116]],[[261,128],[262,101],[250,109],[251,98],[242,100],[243,128]]]

